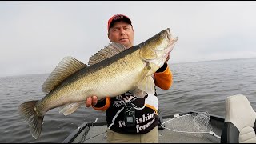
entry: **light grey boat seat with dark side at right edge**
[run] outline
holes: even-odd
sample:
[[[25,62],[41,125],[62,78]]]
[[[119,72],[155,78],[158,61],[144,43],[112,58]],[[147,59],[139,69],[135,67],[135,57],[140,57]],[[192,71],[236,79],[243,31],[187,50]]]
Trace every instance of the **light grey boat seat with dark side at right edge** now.
[[[246,96],[229,96],[225,100],[225,106],[221,143],[256,143],[256,113]]]

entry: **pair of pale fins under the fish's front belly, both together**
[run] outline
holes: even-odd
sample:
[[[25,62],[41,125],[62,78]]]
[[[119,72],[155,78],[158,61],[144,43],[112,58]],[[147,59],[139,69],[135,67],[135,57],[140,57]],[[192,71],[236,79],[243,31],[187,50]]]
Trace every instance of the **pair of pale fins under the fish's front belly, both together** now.
[[[137,87],[135,87],[134,90],[131,92],[138,97],[144,97],[145,92],[147,94],[154,94],[155,89],[154,89],[154,79],[152,78],[151,75],[147,76],[145,79],[143,79],[141,82],[138,82]]]

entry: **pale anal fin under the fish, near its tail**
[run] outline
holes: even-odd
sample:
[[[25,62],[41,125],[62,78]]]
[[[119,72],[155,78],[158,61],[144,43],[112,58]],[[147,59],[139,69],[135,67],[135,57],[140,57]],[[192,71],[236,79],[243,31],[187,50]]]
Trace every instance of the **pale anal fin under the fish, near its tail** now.
[[[63,105],[59,113],[63,113],[65,116],[74,113],[75,110],[83,104],[84,102],[73,102]]]

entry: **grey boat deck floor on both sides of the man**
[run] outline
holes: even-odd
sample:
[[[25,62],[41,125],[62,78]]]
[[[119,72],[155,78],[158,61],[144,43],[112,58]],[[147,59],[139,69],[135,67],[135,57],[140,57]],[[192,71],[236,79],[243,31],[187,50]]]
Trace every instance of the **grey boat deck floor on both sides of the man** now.
[[[164,118],[166,122],[170,118]],[[212,131],[221,136],[222,119],[211,119]],[[106,125],[94,123],[90,128],[86,128],[74,139],[74,143],[106,143]],[[89,130],[89,131],[88,131]],[[88,133],[87,133],[88,132]],[[158,131],[159,143],[220,143],[220,138],[211,134],[179,133],[163,129]]]

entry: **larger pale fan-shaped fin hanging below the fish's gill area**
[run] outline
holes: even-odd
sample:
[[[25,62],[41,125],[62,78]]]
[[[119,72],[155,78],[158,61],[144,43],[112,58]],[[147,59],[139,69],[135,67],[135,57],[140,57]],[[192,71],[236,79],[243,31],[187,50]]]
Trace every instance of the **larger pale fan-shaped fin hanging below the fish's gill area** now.
[[[141,82],[138,82],[138,85],[137,85],[139,90],[142,90],[143,92],[146,92],[147,94],[154,94],[154,92],[155,92],[154,86],[155,86],[154,79],[152,78],[151,75],[147,76]],[[139,90],[136,90],[136,88],[135,88],[134,92],[136,93],[136,91],[137,91],[137,94],[139,94],[139,93],[143,94],[143,92],[141,92]]]

